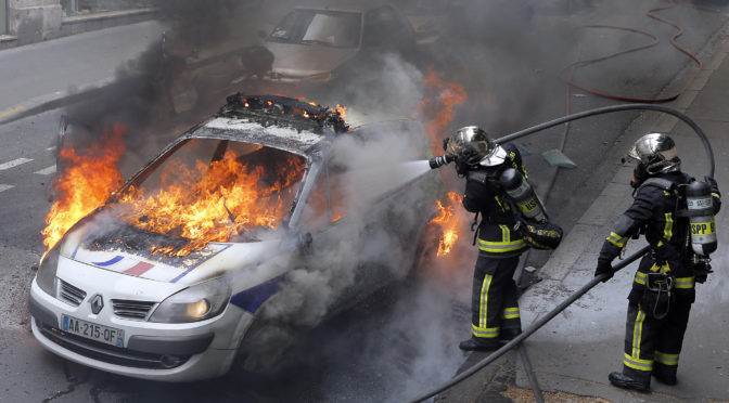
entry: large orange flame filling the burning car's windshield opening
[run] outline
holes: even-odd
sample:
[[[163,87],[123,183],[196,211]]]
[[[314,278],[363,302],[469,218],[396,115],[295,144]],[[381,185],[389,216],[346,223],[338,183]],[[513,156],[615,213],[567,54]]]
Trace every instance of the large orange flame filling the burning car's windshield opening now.
[[[170,161],[161,176],[162,190],[150,194],[132,187],[119,198],[120,205],[131,207],[119,218],[142,230],[189,239],[179,249],[151,250],[178,257],[210,242],[228,242],[246,227],[276,229],[291,207],[282,196],[293,197],[291,184],[300,180],[305,162],[289,156],[274,183],[265,187],[264,168],[250,170],[236,157],[227,151],[222,159],[209,165],[197,160],[194,168]]]

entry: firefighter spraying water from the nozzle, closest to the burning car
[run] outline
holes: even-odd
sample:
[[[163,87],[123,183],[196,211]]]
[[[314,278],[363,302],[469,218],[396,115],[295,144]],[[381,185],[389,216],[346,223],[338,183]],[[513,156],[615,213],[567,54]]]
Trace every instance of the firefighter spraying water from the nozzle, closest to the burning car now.
[[[478,258],[471,299],[472,337],[462,350],[490,351],[522,333],[514,271],[529,245],[514,231],[515,208],[500,185],[500,174],[516,169],[524,178],[519,150],[511,143],[497,145],[481,128],[469,126],[444,140],[456,170],[465,177],[463,207],[481,216],[477,229]]]

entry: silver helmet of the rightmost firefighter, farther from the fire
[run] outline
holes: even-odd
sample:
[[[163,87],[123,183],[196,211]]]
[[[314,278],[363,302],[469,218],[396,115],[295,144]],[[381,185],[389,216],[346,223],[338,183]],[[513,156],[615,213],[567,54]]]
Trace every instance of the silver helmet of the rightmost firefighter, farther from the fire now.
[[[663,133],[649,133],[641,136],[624,158],[637,160],[648,174],[681,169],[681,159],[676,152],[676,143]]]

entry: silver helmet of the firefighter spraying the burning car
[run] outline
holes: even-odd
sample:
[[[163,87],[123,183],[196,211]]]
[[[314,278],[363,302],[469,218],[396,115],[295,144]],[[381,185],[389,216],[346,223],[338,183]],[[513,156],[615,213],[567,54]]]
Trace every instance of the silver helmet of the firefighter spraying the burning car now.
[[[507,152],[477,126],[466,126],[453,133],[446,144],[446,154],[468,165],[491,167],[503,162]]]

